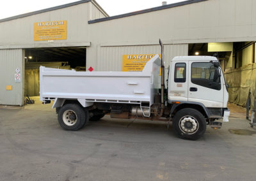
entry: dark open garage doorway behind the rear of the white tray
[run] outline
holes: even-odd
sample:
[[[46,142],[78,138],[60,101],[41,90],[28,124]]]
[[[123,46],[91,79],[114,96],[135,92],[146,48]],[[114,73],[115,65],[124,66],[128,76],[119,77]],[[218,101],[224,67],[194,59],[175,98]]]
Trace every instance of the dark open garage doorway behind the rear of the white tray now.
[[[39,96],[39,68],[75,69],[86,71],[86,47],[51,47],[25,49],[24,97]]]

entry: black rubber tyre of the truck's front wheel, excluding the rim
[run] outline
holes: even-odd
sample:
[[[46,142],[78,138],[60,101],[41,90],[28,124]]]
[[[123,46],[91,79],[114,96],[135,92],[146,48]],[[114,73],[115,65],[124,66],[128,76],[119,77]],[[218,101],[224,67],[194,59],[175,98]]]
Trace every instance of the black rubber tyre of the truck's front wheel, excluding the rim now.
[[[199,129],[194,134],[184,134],[179,128],[179,120],[184,117],[185,115],[191,115],[195,117],[195,119],[198,120]],[[206,121],[204,115],[202,113],[198,112],[198,110],[195,110],[193,108],[184,108],[182,110],[179,110],[173,117],[173,131],[180,136],[180,138],[186,139],[186,140],[197,140],[203,134],[205,133],[206,129]]]

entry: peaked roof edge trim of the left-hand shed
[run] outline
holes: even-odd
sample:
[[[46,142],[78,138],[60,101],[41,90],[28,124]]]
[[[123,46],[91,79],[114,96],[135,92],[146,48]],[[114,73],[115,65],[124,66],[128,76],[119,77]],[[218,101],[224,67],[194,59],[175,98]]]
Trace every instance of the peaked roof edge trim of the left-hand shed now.
[[[47,11],[59,10],[61,8],[67,8],[67,7],[70,7],[70,6],[75,6],[77,4],[83,4],[83,3],[88,3],[88,2],[93,2],[94,4],[96,4],[97,7],[100,8],[100,10],[103,11],[106,14],[106,16],[109,16],[108,13],[106,13],[106,11],[104,11],[96,1],[94,1],[94,0],[82,0],[82,1],[76,1],[74,3],[68,3],[68,4],[63,4],[63,5],[60,5],[60,6],[55,6],[55,7],[52,7],[52,8],[47,8],[47,9],[44,9],[44,10],[33,11],[33,12],[30,12],[30,13],[17,15],[17,16],[14,16],[14,17],[4,18],[4,19],[1,19],[0,22],[15,20],[17,18],[29,17],[31,15],[36,15],[36,14],[39,14],[39,13],[45,13]]]

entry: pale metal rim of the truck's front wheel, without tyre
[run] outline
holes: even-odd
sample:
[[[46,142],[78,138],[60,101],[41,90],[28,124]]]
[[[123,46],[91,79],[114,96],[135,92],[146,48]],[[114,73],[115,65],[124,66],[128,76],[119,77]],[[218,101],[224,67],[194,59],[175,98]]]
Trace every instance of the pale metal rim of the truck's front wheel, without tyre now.
[[[195,117],[184,116],[179,121],[179,127],[182,133],[194,134],[198,131],[199,124]]]

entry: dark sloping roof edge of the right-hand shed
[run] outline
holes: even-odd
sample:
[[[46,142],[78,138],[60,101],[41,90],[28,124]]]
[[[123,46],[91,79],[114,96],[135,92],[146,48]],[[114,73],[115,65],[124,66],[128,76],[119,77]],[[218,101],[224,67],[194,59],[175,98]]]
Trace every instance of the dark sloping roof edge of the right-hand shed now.
[[[134,16],[134,15],[140,15],[140,14],[143,14],[143,13],[149,13],[149,12],[152,12],[152,11],[165,10],[165,9],[168,9],[168,8],[175,8],[175,7],[178,7],[178,6],[184,6],[184,5],[187,5],[187,4],[199,3],[199,2],[202,2],[202,1],[208,1],[208,0],[182,1],[180,3],[167,4],[167,5],[164,5],[164,6],[158,6],[156,8],[150,8],[150,9],[147,9],[147,10],[135,11],[135,12],[132,12],[132,13],[125,13],[123,15],[116,15],[116,16],[113,16],[113,17],[106,17],[106,18],[99,18],[99,19],[96,19],[96,20],[90,20],[90,21],[88,21],[88,24],[93,24],[93,23],[97,23],[97,22],[104,22],[104,21],[114,20],[114,19],[124,18],[124,17],[130,17],[130,16]]]

